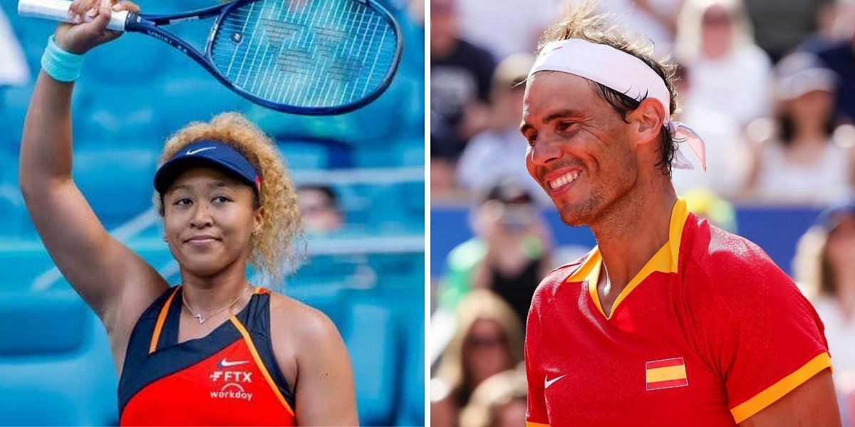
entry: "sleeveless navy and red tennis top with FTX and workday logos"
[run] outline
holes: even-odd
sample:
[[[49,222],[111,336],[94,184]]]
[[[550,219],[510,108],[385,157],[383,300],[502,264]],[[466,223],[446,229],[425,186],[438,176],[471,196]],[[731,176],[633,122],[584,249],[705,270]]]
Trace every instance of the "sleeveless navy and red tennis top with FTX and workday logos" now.
[[[270,345],[270,291],[202,338],[178,342],[181,286],[134,326],[119,382],[121,425],[295,425]]]

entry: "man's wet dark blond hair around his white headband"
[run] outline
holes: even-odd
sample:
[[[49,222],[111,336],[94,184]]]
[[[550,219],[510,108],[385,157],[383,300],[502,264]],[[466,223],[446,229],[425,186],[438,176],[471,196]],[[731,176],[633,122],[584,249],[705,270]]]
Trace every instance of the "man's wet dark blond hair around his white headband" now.
[[[651,67],[662,78],[670,95],[669,110],[672,115],[678,113],[680,102],[677,100],[677,91],[674,85],[677,69],[676,63],[670,61],[667,57],[657,60],[653,57],[652,44],[646,39],[640,38],[624,28],[613,25],[610,22],[612,15],[597,15],[595,11],[596,3],[590,0],[582,2],[575,9],[569,9],[563,20],[553,24],[543,33],[538,43],[536,54],[540,55],[540,51],[543,50],[546,44],[560,40],[569,40],[571,38],[578,38],[595,44],[605,44],[616,50],[621,50],[643,61],[647,64],[647,67]],[[599,95],[606,102],[609,102],[618,114],[621,114],[624,121],[627,120],[627,113],[638,108],[641,103],[610,87],[597,82],[592,83],[597,86]],[[674,139],[664,126],[659,135],[661,157],[656,166],[664,174],[670,175],[671,164],[674,161],[674,152],[676,149]]]

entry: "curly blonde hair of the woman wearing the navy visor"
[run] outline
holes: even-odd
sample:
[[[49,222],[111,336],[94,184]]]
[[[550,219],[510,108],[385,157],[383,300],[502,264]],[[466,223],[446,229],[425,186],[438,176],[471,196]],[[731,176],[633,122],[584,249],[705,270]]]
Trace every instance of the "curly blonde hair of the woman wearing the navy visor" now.
[[[194,121],[169,137],[159,165],[187,145],[214,139],[236,149],[261,175],[257,204],[264,209],[261,231],[251,237],[249,262],[269,284],[280,284],[289,266],[303,253],[304,238],[297,192],[273,140],[239,113],[218,114],[208,123]],[[154,204],[163,216],[161,195]]]

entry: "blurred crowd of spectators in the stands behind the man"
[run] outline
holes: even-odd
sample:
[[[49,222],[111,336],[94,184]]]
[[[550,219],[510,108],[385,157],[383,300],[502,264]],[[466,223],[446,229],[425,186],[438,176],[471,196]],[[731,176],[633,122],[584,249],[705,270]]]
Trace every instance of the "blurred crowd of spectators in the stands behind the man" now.
[[[433,287],[434,426],[524,422],[520,330],[540,278],[569,260],[553,254],[539,213],[551,203],[525,168],[522,95],[540,34],[580,1],[431,1],[431,196],[472,203],[475,235]],[[736,203],[825,209],[793,275],[825,323],[844,423],[855,423],[855,1],[598,8],[678,65],[676,120],[707,149],[706,173],[673,174],[693,212],[737,232]]]

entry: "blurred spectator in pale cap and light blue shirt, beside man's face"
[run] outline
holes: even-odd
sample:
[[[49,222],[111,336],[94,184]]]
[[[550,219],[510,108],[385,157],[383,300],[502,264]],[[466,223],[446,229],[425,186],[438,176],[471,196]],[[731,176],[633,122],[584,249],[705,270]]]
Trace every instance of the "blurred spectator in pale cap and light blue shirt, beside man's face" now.
[[[522,94],[532,65],[534,55],[521,53],[508,56],[496,67],[490,85],[492,126],[472,137],[457,162],[457,183],[463,188],[484,193],[500,178],[510,177],[528,187],[530,194],[543,195],[528,177],[525,162],[520,161],[528,146],[520,134]]]

